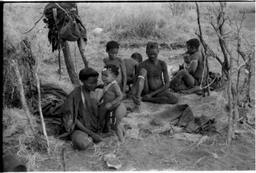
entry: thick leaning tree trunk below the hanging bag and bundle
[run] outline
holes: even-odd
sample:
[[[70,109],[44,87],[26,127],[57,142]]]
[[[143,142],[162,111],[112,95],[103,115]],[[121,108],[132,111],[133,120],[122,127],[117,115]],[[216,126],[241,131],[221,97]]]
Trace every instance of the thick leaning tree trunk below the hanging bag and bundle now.
[[[70,54],[70,49],[69,49],[69,44],[67,41],[61,42],[61,47],[67,67],[67,71],[69,73],[69,77],[71,79],[72,84],[79,85],[79,80],[77,77],[77,74],[75,72],[74,64],[71,59],[71,54]]]

